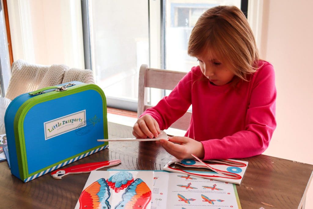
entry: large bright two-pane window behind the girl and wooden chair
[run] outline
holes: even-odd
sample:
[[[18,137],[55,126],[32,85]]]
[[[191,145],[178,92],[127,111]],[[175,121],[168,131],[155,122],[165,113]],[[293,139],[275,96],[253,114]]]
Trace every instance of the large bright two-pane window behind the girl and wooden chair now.
[[[85,2],[82,10],[85,5],[89,27],[85,27],[84,34],[89,39],[84,41],[90,43],[90,65],[96,84],[104,90],[108,106],[132,111],[137,110],[141,64],[189,71],[197,62],[187,55],[187,43],[199,16],[217,5],[240,8],[242,3],[240,0]],[[152,104],[168,94],[151,91]]]

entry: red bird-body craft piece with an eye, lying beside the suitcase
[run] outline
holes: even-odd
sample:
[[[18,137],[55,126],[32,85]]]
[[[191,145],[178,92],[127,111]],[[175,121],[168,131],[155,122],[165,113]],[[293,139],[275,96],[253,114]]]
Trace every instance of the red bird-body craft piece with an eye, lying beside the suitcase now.
[[[59,169],[51,172],[51,176],[55,179],[61,179],[63,176],[68,174],[80,174],[80,173],[90,173],[93,170],[98,170],[104,167],[109,167],[113,165],[120,164],[121,160],[109,160],[103,162],[95,163],[85,163],[80,165],[74,165],[68,168]]]

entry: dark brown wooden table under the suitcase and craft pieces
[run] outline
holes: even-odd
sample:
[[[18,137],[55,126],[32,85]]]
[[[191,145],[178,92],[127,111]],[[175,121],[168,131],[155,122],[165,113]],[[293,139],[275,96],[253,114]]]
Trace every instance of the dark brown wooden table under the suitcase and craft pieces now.
[[[129,138],[132,127],[109,123],[110,138]],[[121,159],[109,168],[161,170],[171,155],[154,142],[110,142],[109,148],[70,165]],[[258,155],[249,162],[241,185],[236,185],[242,208],[301,208],[312,179],[313,165]],[[89,173],[71,174],[61,180],[49,174],[23,183],[0,162],[0,208],[74,208]]]

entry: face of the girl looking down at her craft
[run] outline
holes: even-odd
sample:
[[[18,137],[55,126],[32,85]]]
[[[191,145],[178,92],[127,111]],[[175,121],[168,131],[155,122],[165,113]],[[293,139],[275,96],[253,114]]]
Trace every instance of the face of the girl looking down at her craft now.
[[[229,83],[235,74],[226,60],[213,55],[214,53],[203,52],[196,56],[201,71],[213,84],[222,86]]]

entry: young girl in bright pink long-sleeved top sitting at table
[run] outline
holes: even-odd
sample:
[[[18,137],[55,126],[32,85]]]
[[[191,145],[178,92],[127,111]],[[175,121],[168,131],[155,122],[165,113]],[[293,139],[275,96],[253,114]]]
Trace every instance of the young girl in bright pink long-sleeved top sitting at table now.
[[[276,128],[273,66],[260,60],[244,14],[234,6],[208,9],[192,29],[188,54],[199,61],[168,97],[147,109],[133,135],[156,137],[192,105],[185,137],[160,144],[178,159],[245,158],[264,152]]]

